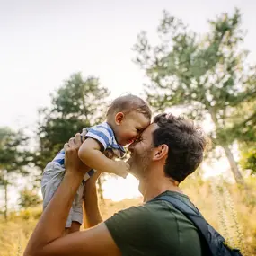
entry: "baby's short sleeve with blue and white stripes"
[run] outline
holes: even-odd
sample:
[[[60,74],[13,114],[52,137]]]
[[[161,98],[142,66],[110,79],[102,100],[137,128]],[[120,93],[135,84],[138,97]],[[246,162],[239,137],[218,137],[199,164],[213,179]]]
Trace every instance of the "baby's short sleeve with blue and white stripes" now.
[[[113,138],[110,128],[98,125],[92,128],[86,128],[86,130],[87,133],[85,137],[92,137],[93,139],[97,140],[102,146],[102,151],[105,151],[106,148],[112,144]]]

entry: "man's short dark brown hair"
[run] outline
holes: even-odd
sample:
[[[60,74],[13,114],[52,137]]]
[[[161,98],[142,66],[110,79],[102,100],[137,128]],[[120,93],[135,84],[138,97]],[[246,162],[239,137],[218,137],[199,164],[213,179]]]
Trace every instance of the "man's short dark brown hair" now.
[[[153,133],[154,147],[169,147],[164,173],[181,182],[202,162],[207,137],[192,120],[181,116],[163,113],[154,118],[154,123],[158,126]]]

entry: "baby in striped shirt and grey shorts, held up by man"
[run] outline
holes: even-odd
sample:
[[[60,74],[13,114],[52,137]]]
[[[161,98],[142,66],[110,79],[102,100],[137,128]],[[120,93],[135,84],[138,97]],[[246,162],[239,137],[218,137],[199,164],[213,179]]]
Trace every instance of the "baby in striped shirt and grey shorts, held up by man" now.
[[[89,167],[90,172],[76,192],[70,209],[66,228],[75,224],[80,228],[83,222],[84,182],[95,172],[115,173],[121,177],[128,174],[129,165],[124,161],[114,161],[125,154],[123,146],[131,144],[150,124],[151,110],[141,98],[128,94],[115,99],[107,111],[106,121],[91,128],[84,128],[84,143],[78,151],[79,158]],[[65,151],[62,149],[52,162],[48,163],[41,180],[43,208],[47,207],[65,174]],[[78,228],[78,229],[79,229]],[[74,230],[76,231],[76,230]]]

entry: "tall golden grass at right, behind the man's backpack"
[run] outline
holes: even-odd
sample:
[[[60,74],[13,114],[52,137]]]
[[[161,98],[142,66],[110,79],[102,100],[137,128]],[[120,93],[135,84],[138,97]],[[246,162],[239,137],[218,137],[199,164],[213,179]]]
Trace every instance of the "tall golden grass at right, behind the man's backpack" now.
[[[192,176],[183,190],[228,245],[252,256],[256,255],[256,177],[246,182],[244,190],[219,177],[199,181]]]

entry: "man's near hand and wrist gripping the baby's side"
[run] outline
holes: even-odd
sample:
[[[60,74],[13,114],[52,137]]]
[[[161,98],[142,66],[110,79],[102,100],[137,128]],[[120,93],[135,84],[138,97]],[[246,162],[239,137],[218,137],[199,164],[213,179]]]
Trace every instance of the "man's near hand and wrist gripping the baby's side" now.
[[[64,145],[66,172],[80,172],[84,174],[85,165],[78,157],[78,149],[81,145],[80,133],[75,134],[75,137],[71,137],[68,143]]]

